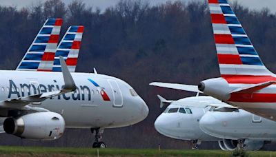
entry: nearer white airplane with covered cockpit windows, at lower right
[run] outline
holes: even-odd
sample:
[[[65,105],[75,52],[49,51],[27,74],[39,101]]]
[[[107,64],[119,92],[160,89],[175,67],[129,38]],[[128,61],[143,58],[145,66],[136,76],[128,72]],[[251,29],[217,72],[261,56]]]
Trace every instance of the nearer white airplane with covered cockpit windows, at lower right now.
[[[235,149],[239,141],[250,149],[258,150],[276,140],[274,121],[230,106],[212,107],[201,117],[199,127],[211,136],[230,139],[225,145],[228,149]]]

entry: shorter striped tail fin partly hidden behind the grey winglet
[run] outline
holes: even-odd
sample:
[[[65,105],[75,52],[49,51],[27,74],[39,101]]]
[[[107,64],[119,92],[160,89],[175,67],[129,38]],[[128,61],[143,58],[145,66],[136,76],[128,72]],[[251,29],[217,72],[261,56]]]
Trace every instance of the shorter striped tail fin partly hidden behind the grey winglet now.
[[[61,72],[59,56],[64,57],[69,71],[75,72],[77,59],[79,57],[79,49],[81,47],[83,30],[84,27],[82,25],[73,25],[68,28],[57,48],[54,67],[52,68],[53,72]]]

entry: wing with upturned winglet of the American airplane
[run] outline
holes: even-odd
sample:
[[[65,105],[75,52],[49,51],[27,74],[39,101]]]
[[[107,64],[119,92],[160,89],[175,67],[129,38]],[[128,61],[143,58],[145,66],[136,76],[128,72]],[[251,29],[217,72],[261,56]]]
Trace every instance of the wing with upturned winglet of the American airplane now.
[[[63,80],[64,80],[64,87],[62,90],[1,101],[0,107],[25,106],[25,105],[28,105],[29,103],[39,103],[39,102],[45,101],[47,98],[51,98],[54,96],[58,96],[60,94],[66,94],[68,92],[75,91],[76,90],[75,81],[72,78],[72,75],[70,74],[68,67],[66,66],[66,63],[62,56],[59,56],[59,61],[61,63],[61,71],[62,71]]]

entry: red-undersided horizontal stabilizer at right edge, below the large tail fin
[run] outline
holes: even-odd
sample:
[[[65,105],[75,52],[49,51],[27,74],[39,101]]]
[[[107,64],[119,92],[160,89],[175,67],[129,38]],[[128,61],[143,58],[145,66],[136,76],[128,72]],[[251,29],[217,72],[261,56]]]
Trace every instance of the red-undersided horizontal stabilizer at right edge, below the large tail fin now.
[[[253,93],[253,92],[257,92],[258,90],[262,90],[265,87],[268,87],[269,85],[272,85],[276,83],[276,81],[267,81],[264,83],[259,83],[256,85],[250,85],[247,87],[239,87],[236,90],[233,90],[232,92],[230,92],[231,94],[233,93]]]

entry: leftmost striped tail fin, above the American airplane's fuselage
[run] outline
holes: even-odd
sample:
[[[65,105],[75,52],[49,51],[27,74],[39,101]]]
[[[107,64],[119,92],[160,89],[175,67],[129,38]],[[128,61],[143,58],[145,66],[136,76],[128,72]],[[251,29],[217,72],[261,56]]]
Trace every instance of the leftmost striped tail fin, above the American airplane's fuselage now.
[[[62,19],[48,19],[30,45],[17,70],[52,71]]]

